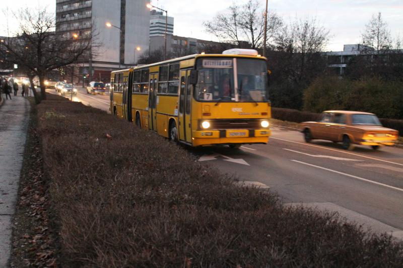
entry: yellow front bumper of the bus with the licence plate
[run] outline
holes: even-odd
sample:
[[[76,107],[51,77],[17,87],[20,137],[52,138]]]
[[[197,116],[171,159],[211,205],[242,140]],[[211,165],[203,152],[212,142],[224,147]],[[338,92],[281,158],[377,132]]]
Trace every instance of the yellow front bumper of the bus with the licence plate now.
[[[213,144],[267,143],[270,129],[194,130],[193,146]]]

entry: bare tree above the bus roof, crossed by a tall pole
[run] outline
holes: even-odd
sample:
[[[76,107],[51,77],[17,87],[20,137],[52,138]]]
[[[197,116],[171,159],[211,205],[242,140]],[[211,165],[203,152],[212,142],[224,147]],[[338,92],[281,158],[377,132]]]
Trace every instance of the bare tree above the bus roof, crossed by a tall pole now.
[[[268,15],[267,36],[268,42],[274,37],[283,25],[276,13]],[[203,23],[206,32],[215,35],[221,42],[232,43],[244,48],[249,43],[253,49],[263,46],[264,16],[256,0],[249,0],[243,6],[233,4],[225,13],[219,13],[212,21]]]

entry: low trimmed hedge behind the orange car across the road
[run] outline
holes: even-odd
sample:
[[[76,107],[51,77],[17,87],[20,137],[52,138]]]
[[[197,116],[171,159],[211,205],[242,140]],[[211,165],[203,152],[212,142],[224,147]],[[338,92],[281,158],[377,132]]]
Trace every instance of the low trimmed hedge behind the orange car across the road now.
[[[279,119],[283,121],[301,123],[306,121],[318,121],[321,118],[321,114],[286,108],[272,108],[272,117],[274,119]],[[380,118],[379,120],[384,127],[395,129],[399,131],[400,136],[403,136],[403,120],[387,118]]]

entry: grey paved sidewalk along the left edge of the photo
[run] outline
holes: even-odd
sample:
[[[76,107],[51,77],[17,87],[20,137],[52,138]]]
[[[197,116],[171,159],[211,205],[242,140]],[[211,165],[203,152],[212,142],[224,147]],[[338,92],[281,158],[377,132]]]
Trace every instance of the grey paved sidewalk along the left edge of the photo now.
[[[30,105],[12,96],[0,107],[0,267],[9,265],[14,216]]]

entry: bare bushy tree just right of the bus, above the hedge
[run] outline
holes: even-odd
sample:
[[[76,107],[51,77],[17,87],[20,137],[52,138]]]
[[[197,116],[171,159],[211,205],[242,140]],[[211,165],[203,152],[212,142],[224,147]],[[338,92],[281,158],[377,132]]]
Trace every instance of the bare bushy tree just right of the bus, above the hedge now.
[[[321,52],[328,39],[329,31],[316,19],[296,19],[282,28],[275,48],[267,53],[274,106],[302,108],[304,89],[326,70]]]

